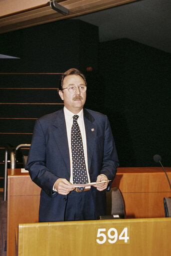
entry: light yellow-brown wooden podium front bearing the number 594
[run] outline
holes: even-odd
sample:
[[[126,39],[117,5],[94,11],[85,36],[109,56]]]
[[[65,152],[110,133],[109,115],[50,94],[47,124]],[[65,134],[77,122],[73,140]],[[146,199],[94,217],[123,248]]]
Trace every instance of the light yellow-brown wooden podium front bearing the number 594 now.
[[[18,256],[170,256],[170,237],[170,218],[19,224]]]

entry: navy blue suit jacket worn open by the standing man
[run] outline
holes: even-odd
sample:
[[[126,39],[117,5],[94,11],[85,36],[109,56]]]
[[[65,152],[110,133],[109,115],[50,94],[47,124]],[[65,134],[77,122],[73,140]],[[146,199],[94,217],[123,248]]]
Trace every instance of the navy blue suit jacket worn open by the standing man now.
[[[108,119],[105,115],[83,109],[88,172],[91,182],[99,174],[113,180],[118,158]],[[69,149],[63,109],[36,120],[25,169],[39,187],[39,221],[63,221],[67,195],[52,190],[57,178],[70,178]],[[111,182],[109,183],[109,186]],[[108,187],[109,187],[108,186]],[[105,214],[105,191],[91,186],[95,215]]]

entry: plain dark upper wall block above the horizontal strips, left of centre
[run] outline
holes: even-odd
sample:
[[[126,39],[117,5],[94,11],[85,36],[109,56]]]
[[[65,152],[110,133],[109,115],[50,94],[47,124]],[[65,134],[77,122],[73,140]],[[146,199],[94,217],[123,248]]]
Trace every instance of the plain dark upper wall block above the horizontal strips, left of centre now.
[[[0,51],[20,60],[0,60],[1,72],[63,72],[97,69],[98,28],[64,20],[0,35]],[[2,64],[2,65],[1,65]]]

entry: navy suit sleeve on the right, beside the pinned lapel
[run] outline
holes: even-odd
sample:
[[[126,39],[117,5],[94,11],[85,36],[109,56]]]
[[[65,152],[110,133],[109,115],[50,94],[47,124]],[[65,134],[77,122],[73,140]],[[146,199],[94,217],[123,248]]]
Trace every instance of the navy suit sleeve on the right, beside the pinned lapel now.
[[[105,116],[103,161],[100,174],[104,174],[108,178],[108,180],[111,180],[107,186],[107,190],[109,190],[111,187],[111,183],[116,175],[118,166],[119,161],[113,135],[111,132],[108,118]]]

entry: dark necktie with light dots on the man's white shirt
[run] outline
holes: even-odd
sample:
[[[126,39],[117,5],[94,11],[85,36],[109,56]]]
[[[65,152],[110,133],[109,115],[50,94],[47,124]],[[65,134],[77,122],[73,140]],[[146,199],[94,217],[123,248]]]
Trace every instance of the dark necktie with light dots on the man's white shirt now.
[[[73,124],[71,127],[71,152],[72,152],[72,172],[73,184],[86,184],[88,183],[85,158],[83,152],[82,138],[77,123],[78,116],[73,116]],[[84,187],[78,187],[83,191]]]

